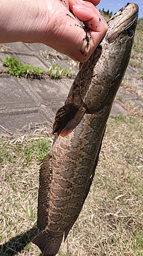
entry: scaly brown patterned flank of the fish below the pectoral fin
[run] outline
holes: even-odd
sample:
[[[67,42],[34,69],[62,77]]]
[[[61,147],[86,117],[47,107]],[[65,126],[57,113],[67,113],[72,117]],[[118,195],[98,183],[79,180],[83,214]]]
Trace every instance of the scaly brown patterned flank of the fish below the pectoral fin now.
[[[108,110],[108,112],[110,112],[110,110]],[[100,118],[98,118],[98,120],[101,123]],[[52,150],[55,161],[52,165],[47,229],[51,229],[51,216],[53,225],[53,216],[56,216],[56,209],[60,211],[61,215],[58,220],[60,223],[57,224],[58,221],[56,218],[55,225],[62,225],[64,229],[67,225],[65,218],[71,214],[74,216],[78,210],[97,157],[97,154],[95,154],[95,152],[98,153],[96,148],[99,148],[104,126],[107,121],[105,119],[102,120],[104,123],[102,123],[102,125],[100,124],[102,126],[102,130],[100,130],[99,134],[98,131],[94,130],[95,122],[97,124],[96,115],[85,114],[80,124],[68,136],[68,141],[67,137],[58,136],[53,143]],[[89,131],[92,129],[92,137],[89,137]],[[94,148],[89,146],[89,143],[92,142],[94,142]],[[70,154],[65,155],[65,149],[67,146],[72,150],[72,147],[75,148],[74,144],[76,145],[77,151],[74,150],[74,152],[72,152],[72,157],[70,157]],[[84,147],[82,147],[82,144],[84,144]],[[61,149],[60,152],[59,148]],[[87,166],[87,161],[89,162],[89,166]],[[64,198],[59,197],[59,193],[63,194]],[[63,234],[63,228],[61,233]]]

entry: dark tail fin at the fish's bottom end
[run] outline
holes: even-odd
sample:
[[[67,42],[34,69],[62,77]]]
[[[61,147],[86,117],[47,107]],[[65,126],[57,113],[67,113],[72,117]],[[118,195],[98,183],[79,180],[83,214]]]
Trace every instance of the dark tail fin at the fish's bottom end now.
[[[55,256],[58,253],[61,246],[63,235],[60,237],[49,236],[45,230],[42,231],[36,238],[33,239],[33,243],[36,244],[42,251],[42,256]]]

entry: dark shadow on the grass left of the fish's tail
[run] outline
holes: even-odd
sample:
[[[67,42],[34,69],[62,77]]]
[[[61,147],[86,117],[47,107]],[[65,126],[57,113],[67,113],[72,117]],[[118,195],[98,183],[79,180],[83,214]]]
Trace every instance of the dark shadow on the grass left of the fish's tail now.
[[[37,235],[37,227],[33,227],[27,230],[25,233],[21,233],[16,237],[10,239],[7,243],[0,245],[0,255],[14,256],[20,252],[24,247],[30,243]]]

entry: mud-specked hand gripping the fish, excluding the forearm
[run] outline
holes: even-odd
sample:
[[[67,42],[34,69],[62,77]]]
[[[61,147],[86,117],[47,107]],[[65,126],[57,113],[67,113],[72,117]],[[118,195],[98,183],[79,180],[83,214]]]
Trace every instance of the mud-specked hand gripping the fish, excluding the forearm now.
[[[94,6],[100,0],[88,1],[48,0],[49,24],[44,44],[80,62],[88,60],[107,32],[107,23]],[[71,12],[82,20],[84,29]]]

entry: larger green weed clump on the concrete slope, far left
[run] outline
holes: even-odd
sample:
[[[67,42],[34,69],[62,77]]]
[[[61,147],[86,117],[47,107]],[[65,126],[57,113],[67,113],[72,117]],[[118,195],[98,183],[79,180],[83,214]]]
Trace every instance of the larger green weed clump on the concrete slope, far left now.
[[[40,78],[44,73],[43,69],[33,67],[28,64],[22,64],[14,57],[6,57],[3,60],[6,72],[16,77]]]

